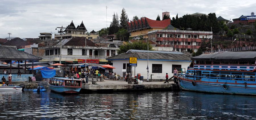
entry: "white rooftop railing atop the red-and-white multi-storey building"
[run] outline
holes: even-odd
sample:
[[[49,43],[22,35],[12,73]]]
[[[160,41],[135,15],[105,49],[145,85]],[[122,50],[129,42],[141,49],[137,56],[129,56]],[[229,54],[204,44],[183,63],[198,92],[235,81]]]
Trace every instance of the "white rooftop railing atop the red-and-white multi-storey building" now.
[[[177,33],[195,33],[195,34],[198,34],[198,33],[202,33],[202,34],[212,34],[212,32],[208,32],[208,31],[187,31],[187,30],[152,30],[152,31],[149,31],[148,34],[150,33],[154,33],[154,32],[177,32]]]

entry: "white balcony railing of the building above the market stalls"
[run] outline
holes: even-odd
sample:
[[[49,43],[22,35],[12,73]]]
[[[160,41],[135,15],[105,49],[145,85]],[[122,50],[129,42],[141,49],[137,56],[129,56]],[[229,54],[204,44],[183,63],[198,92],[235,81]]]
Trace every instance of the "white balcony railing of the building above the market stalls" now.
[[[111,56],[90,56],[87,55],[86,59],[106,59]],[[47,55],[42,56],[43,59],[51,59],[51,58],[59,58],[59,55]],[[69,58],[69,59],[85,59],[85,55],[61,55],[61,58]]]

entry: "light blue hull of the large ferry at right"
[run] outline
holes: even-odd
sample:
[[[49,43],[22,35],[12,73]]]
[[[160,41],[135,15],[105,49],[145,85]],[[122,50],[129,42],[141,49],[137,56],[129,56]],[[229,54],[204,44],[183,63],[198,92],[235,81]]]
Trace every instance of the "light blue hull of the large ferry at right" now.
[[[179,77],[178,77],[179,78]],[[197,92],[209,92],[220,94],[240,94],[240,95],[256,95],[256,88],[254,87],[242,87],[232,84],[228,85],[228,89],[224,89],[223,84],[208,84],[195,81],[195,86],[192,84],[193,80],[186,80],[179,78],[179,87],[182,90],[197,91]]]

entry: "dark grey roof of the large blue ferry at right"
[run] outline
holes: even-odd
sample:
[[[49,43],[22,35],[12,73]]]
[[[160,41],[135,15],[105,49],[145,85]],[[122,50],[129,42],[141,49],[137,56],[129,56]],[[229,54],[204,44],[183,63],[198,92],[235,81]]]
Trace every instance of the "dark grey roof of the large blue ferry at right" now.
[[[191,59],[199,61],[255,61],[256,51],[202,54]]]

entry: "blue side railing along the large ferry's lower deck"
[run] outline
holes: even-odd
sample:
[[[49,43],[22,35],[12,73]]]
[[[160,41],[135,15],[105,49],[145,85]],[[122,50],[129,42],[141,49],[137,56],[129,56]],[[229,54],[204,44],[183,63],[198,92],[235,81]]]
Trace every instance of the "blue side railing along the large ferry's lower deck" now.
[[[187,75],[187,74],[178,74],[178,76],[183,76],[183,77],[191,76],[189,78],[193,78],[193,80],[201,80],[202,78],[207,78],[209,81],[212,79],[218,79],[218,81],[226,81],[226,80],[255,81],[255,76],[254,78],[211,77],[211,76],[196,76],[196,75]]]

